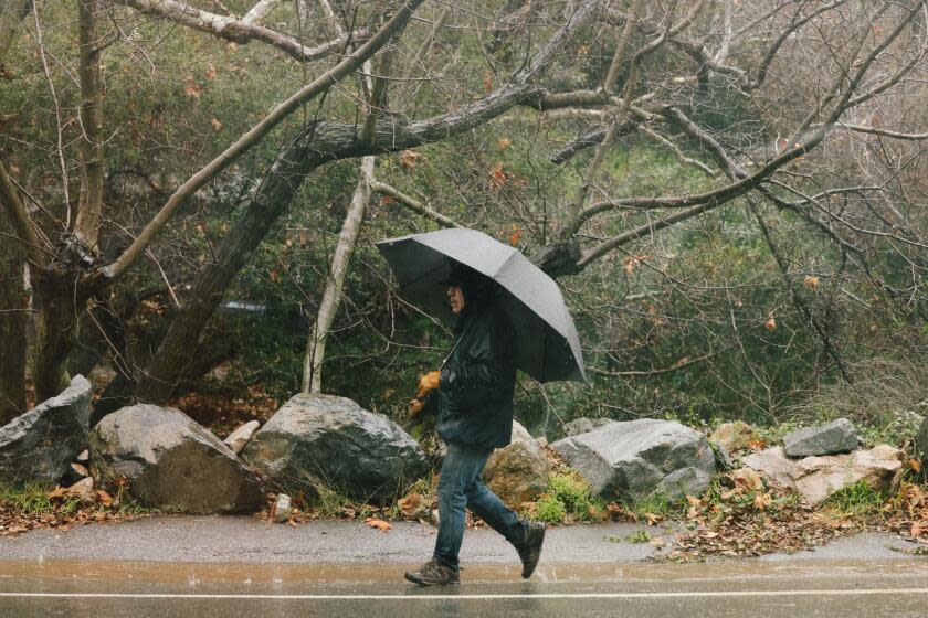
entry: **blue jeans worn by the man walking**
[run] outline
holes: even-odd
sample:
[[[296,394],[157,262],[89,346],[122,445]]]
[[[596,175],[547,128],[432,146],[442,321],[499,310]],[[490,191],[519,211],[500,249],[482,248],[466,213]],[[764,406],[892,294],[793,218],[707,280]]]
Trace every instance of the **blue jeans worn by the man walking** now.
[[[439,477],[439,536],[434,560],[457,569],[457,553],[464,539],[464,508],[506,537],[525,541],[526,524],[481,480],[491,450],[451,443]]]

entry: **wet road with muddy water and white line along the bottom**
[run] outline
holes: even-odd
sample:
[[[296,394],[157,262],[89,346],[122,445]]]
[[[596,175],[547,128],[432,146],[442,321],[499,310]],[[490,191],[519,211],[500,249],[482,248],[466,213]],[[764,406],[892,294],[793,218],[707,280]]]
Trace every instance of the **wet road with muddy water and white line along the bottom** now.
[[[928,562],[713,565],[476,564],[451,588],[402,580],[411,564],[2,561],[0,616],[928,616]]]

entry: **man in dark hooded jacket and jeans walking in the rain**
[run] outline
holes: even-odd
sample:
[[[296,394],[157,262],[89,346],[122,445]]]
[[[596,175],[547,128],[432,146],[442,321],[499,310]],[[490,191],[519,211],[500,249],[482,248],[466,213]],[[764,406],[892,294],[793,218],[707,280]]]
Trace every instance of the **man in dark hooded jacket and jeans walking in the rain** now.
[[[422,379],[410,406],[412,416],[437,408],[436,428],[447,446],[439,478],[439,534],[432,560],[405,578],[423,586],[458,582],[465,507],[516,547],[521,576],[528,578],[541,555],[545,525],[520,520],[481,479],[489,454],[508,445],[513,433],[513,327],[489,279],[458,266],[445,283],[455,315],[454,343],[441,371]]]

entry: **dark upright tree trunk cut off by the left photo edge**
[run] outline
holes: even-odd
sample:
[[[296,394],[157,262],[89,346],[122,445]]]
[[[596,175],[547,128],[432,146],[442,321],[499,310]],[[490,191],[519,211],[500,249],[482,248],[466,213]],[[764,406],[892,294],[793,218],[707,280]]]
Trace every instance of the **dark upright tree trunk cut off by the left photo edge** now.
[[[4,217],[0,222],[6,225]],[[25,265],[17,243],[0,243],[0,426],[25,412]]]

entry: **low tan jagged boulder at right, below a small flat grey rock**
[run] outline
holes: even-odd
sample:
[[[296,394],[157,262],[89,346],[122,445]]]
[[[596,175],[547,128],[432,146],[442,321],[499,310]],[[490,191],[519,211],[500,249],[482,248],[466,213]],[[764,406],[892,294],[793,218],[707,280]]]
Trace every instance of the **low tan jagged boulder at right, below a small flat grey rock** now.
[[[793,488],[810,504],[818,504],[858,481],[877,491],[892,491],[903,475],[903,451],[888,445],[847,455],[788,459],[780,447],[753,454],[745,465]]]

